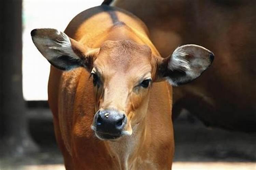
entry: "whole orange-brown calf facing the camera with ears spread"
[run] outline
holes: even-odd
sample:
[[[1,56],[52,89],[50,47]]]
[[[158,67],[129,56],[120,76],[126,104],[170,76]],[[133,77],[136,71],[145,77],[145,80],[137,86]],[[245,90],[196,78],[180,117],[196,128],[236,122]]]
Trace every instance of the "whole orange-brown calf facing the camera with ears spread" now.
[[[31,31],[52,64],[48,100],[66,169],[171,169],[172,85],[207,69],[197,45],[162,58],[134,15],[106,5],[78,14],[65,33]]]

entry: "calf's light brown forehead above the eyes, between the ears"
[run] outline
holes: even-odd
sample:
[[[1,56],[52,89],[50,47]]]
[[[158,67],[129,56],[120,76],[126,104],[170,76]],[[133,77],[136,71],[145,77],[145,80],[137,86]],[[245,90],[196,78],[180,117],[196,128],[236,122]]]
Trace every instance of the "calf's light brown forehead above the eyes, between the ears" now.
[[[106,41],[100,48],[95,67],[102,73],[115,70],[127,73],[130,71],[151,70],[151,49],[130,40]]]

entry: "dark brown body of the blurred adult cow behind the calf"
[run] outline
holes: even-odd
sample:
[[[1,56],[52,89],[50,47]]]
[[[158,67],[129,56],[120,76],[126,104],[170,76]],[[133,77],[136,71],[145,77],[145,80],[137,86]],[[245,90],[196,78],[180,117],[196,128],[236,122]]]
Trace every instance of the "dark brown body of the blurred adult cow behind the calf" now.
[[[255,0],[116,0],[141,18],[162,56],[195,43],[216,62],[193,83],[174,88],[173,114],[182,108],[208,126],[256,131]]]

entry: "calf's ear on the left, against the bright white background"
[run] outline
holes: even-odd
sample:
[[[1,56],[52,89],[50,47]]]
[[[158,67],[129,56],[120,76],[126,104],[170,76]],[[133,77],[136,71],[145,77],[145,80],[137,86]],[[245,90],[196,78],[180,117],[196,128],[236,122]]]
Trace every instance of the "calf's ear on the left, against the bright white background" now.
[[[56,29],[34,29],[31,31],[34,45],[41,54],[60,70],[93,66],[98,49],[88,49],[76,40]]]

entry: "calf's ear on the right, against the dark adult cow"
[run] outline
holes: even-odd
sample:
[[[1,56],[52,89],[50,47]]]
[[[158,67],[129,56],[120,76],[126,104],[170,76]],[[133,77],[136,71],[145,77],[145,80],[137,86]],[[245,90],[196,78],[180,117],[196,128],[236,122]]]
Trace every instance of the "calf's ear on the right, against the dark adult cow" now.
[[[174,86],[198,78],[213,62],[214,54],[201,46],[184,45],[158,64],[158,79],[168,80]]]

